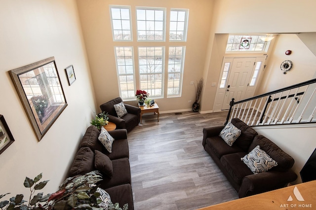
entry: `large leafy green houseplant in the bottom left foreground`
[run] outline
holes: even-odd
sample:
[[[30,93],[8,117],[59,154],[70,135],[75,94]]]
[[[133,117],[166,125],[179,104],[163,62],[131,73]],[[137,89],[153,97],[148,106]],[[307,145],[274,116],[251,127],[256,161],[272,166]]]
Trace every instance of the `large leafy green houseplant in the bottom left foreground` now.
[[[43,193],[38,193],[31,199],[35,190],[42,189],[48,182],[46,180],[37,183],[41,177],[42,174],[34,179],[25,178],[24,186],[30,188],[31,191],[28,204],[25,204],[27,201],[23,200],[23,194],[18,194],[9,201],[1,201],[1,210],[103,210],[99,208],[100,193],[96,192],[96,183],[102,180],[102,175],[98,171],[69,177],[59,186],[57,192],[45,196],[42,196]],[[0,199],[7,194],[9,193],[0,195]],[[121,209],[118,203],[113,204],[110,201],[108,210],[128,210],[128,204]]]

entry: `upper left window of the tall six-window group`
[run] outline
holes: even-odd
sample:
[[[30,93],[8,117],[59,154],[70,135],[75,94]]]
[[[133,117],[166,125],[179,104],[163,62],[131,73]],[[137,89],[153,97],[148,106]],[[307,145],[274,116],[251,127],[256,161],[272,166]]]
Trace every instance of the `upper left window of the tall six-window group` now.
[[[114,41],[131,41],[131,18],[129,6],[110,6]]]

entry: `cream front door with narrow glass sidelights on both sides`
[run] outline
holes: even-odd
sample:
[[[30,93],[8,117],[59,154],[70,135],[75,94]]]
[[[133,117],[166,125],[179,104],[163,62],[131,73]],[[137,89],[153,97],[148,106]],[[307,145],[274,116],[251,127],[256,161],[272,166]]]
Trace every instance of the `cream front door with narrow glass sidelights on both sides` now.
[[[230,102],[253,97],[257,78],[263,70],[266,56],[224,58],[214,111],[230,108]]]

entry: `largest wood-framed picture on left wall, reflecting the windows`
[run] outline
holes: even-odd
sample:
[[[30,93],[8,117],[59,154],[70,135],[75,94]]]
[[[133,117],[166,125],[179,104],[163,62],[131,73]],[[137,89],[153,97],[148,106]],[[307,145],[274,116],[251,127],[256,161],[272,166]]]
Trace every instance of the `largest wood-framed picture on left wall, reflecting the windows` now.
[[[55,58],[10,70],[9,73],[40,141],[67,106]]]

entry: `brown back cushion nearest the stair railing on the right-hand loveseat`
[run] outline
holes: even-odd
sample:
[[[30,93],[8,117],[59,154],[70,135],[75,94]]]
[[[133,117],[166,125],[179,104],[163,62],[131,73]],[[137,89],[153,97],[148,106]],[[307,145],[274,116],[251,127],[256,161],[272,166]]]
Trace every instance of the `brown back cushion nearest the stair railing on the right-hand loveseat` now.
[[[248,152],[251,142],[253,141],[254,137],[258,135],[258,133],[238,118],[232,119],[232,124],[241,131],[240,136],[234,144],[240,147],[243,151]]]

